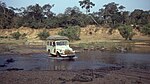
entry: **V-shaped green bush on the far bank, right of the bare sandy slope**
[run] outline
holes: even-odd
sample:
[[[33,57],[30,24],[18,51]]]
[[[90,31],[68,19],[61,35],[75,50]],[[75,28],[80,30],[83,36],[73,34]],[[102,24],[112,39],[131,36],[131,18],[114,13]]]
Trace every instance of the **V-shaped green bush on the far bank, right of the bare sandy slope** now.
[[[125,40],[132,40],[132,37],[135,35],[130,25],[121,25],[118,27],[118,30]]]

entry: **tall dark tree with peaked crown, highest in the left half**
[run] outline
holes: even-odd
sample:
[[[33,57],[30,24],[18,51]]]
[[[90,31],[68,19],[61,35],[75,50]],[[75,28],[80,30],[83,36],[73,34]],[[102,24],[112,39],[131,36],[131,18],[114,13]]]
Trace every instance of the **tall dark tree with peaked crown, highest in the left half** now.
[[[31,28],[44,27],[42,19],[44,17],[43,9],[39,4],[30,5],[24,11],[23,26]]]

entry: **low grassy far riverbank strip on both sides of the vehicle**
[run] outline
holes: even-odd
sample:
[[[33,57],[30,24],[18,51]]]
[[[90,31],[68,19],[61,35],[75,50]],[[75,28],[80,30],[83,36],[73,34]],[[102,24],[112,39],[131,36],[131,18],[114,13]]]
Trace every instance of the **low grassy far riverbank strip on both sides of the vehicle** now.
[[[14,41],[15,42],[15,41]],[[134,52],[149,53],[150,41],[105,41],[91,43],[71,43],[70,46],[76,52],[84,51],[106,51],[106,52]],[[45,45],[26,45],[25,43],[1,43],[0,54],[29,55],[36,53],[47,53]]]

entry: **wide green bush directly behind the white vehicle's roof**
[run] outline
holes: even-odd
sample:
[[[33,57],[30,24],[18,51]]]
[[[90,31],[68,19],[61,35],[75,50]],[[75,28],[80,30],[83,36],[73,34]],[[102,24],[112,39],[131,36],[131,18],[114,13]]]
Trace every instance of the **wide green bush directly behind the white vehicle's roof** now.
[[[68,26],[60,31],[58,35],[67,36],[70,40],[80,40],[80,31],[79,26]]]

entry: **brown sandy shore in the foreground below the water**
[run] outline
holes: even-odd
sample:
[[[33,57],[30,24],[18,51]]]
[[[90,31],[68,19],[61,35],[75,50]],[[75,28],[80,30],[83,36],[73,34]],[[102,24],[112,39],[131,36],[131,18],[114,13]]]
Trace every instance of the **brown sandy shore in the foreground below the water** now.
[[[150,71],[107,68],[80,71],[0,71],[1,84],[149,84]]]

